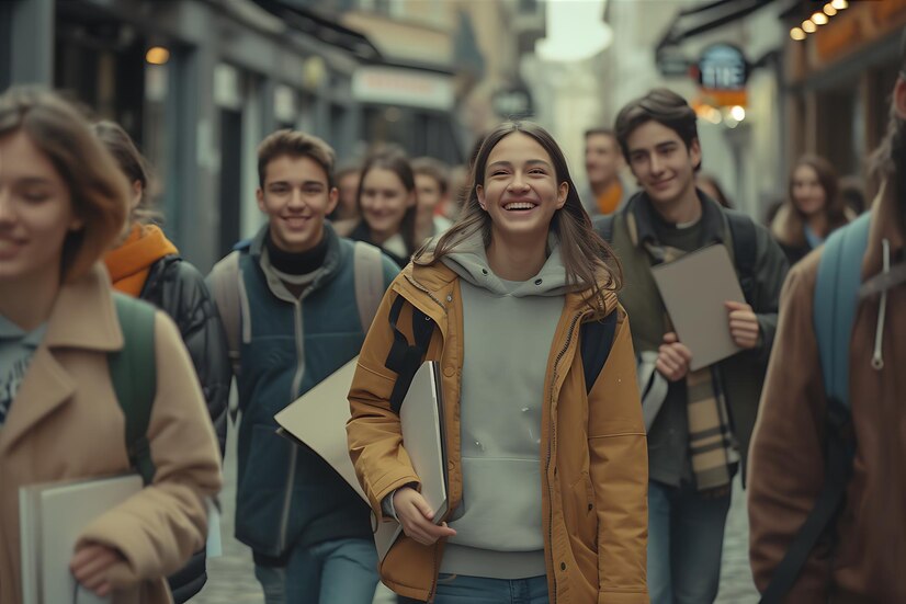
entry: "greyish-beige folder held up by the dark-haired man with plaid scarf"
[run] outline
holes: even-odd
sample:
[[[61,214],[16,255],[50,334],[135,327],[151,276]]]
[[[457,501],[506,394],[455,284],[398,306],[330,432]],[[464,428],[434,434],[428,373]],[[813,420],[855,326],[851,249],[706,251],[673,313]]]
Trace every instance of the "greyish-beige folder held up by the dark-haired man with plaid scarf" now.
[[[741,350],[729,334],[729,311],[724,303],[746,299],[723,244],[653,266],[652,274],[679,341],[692,351],[692,371]]]

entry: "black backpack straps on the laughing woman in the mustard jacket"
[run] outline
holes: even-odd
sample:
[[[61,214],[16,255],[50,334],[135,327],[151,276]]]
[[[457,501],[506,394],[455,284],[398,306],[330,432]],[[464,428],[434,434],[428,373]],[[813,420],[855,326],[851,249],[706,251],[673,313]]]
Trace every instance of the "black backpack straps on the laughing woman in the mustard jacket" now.
[[[415,343],[409,344],[406,335],[399,331],[397,322],[399,312],[405,303],[403,296],[397,296],[390,307],[389,321],[394,330],[394,343],[387,355],[384,366],[397,374],[396,384],[390,394],[390,409],[399,414],[403,407],[403,399],[409,391],[424,354],[428,352],[428,344],[431,342],[431,334],[434,332],[434,321],[424,312],[412,307],[412,333]],[[610,350],[613,347],[613,338],[616,333],[616,311],[611,312],[601,321],[588,321],[580,328],[580,354],[582,357],[582,369],[585,373],[586,394],[591,390],[591,386],[601,373],[607,363]]]

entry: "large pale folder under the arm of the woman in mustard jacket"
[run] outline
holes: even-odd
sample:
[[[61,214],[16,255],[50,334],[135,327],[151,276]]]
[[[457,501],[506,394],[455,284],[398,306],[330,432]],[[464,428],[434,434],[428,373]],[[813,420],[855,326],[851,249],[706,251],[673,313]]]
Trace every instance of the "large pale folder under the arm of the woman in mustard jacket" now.
[[[349,390],[358,357],[308,390],[274,417],[281,432],[321,456],[366,503],[349,457],[346,424]],[[440,368],[433,361],[421,365],[400,410],[403,446],[421,480],[421,494],[435,510],[438,522],[446,513],[446,445],[443,438],[443,401]],[[377,527],[374,543],[383,560],[401,527],[395,522]]]

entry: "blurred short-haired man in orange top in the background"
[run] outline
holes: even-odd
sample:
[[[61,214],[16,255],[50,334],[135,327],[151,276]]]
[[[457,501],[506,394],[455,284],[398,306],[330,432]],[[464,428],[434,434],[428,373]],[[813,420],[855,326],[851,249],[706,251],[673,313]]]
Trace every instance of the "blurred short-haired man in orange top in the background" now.
[[[608,216],[626,204],[628,190],[620,180],[623,166],[623,155],[612,129],[592,128],[585,133],[588,184],[580,195],[589,216]]]

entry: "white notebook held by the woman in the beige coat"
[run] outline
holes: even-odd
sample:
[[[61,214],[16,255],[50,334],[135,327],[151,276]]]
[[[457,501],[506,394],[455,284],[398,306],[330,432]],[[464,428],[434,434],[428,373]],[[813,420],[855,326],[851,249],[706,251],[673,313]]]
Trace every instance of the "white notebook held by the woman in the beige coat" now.
[[[22,487],[19,526],[23,603],[110,602],[77,586],[69,562],[82,531],[141,487],[138,475]]]

